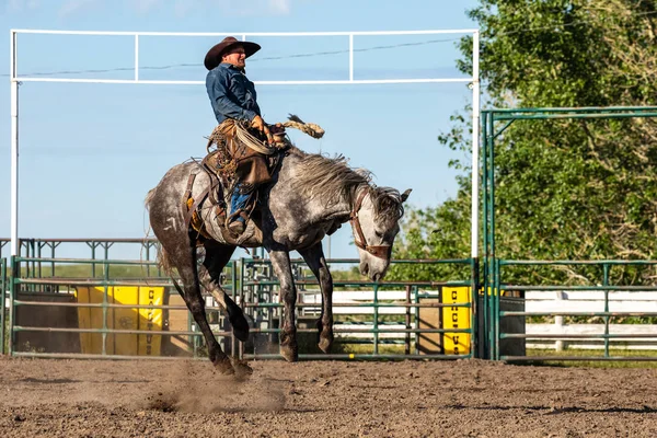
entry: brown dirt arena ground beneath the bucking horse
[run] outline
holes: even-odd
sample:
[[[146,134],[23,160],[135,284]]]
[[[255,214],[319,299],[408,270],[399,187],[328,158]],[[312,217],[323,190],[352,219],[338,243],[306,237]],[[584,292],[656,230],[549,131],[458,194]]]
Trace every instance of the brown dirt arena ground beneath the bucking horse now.
[[[655,437],[657,370],[0,358],[0,437]]]

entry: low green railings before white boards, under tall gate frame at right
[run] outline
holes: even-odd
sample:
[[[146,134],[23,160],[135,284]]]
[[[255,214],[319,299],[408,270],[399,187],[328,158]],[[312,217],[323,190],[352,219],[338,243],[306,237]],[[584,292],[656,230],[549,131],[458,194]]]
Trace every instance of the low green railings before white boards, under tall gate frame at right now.
[[[565,266],[588,267],[591,284],[539,286],[505,281],[505,278],[514,274],[514,270],[523,269],[527,273],[528,269],[542,269],[545,273],[546,269]],[[654,268],[657,266],[657,261],[496,261],[497,290],[522,291],[525,296],[528,290],[531,290],[535,296],[534,300],[542,300],[542,306],[533,306],[531,309],[525,310],[504,310],[499,306],[499,295],[495,296],[495,318],[492,330],[488,332],[491,342],[495,344],[496,353],[493,358],[510,361],[657,360],[657,356],[649,355],[654,349],[649,344],[657,342],[657,286],[614,285],[610,279],[612,269],[627,266],[639,269]],[[555,299],[544,301],[543,296],[546,295],[551,295]],[[572,295],[573,300],[566,300],[567,295]],[[542,319],[543,321],[554,321],[554,323],[549,330],[540,333],[538,333],[538,328],[542,328],[541,324],[527,324],[523,333],[510,333],[510,331],[504,330],[505,320],[518,318]],[[511,356],[503,353],[500,348],[500,345],[509,339],[533,343],[554,341],[557,343],[555,345],[557,353],[541,356],[539,351],[534,356]],[[586,343],[583,343],[584,341]],[[566,350],[563,347],[564,343],[570,343],[570,348]],[[586,354],[577,356],[568,354],[568,351],[577,349],[586,349]],[[641,355],[629,354],[636,349]]]

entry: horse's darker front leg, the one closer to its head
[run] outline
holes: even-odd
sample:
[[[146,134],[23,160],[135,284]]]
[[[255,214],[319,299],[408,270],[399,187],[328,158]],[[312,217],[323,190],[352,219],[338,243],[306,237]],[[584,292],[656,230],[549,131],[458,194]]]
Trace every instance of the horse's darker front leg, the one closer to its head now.
[[[322,314],[316,324],[320,332],[318,345],[322,351],[331,353],[331,347],[333,346],[333,277],[331,277],[328,265],[324,258],[322,242],[318,242],[307,250],[299,250],[299,254],[301,254],[308,267],[310,267],[318,281],[320,281]]]

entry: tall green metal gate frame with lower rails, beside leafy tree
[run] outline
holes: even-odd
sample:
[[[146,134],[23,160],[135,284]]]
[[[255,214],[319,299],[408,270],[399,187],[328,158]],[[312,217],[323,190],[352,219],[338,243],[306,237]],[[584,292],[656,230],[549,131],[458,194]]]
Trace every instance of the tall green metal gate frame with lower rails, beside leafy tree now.
[[[622,265],[657,265],[657,261],[511,261],[499,260],[496,255],[496,221],[495,221],[495,141],[496,139],[516,120],[546,120],[546,119],[600,119],[600,118],[632,118],[632,117],[657,117],[657,107],[583,107],[583,108],[514,108],[514,110],[486,110],[482,111],[482,192],[483,192],[483,252],[484,268],[483,283],[484,289],[489,291],[484,295],[483,320],[482,325],[486,334],[486,357],[491,359],[507,360],[549,360],[549,359],[595,359],[595,360],[657,360],[657,356],[646,357],[613,357],[610,355],[610,341],[622,338],[657,338],[655,334],[612,334],[610,333],[611,318],[652,318],[657,316],[656,312],[622,312],[610,311],[609,293],[612,291],[652,291],[657,287],[630,287],[611,285],[609,283],[609,270],[613,266]],[[566,287],[563,285],[510,285],[505,283],[505,274],[512,268],[520,266],[563,266],[563,265],[589,265],[598,266],[601,269],[599,285],[586,287]],[[574,290],[597,290],[603,293],[604,308],[601,311],[593,312],[527,312],[518,310],[500,309],[500,302],[504,300],[505,292],[523,292],[526,290],[537,291],[574,291]],[[568,338],[599,338],[603,341],[602,356],[549,356],[549,357],[529,357],[505,355],[502,351],[502,343],[509,339],[528,339],[532,337],[531,333],[508,333],[503,325],[510,319],[527,319],[540,316],[553,318],[601,318],[604,321],[604,332],[601,334],[569,335]],[[558,338],[563,335],[541,335],[541,337]],[[535,336],[534,336],[535,337]]]

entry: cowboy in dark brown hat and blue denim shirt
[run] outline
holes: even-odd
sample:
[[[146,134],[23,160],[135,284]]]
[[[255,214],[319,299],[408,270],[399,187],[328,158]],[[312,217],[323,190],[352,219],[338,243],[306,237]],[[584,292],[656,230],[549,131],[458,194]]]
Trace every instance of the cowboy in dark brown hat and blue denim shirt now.
[[[228,118],[247,122],[252,128],[262,132],[269,143],[269,127],[263,120],[256,102],[255,87],[245,74],[245,60],[261,46],[256,43],[240,42],[232,36],[210,48],[205,57],[205,67],[209,70],[206,77],[206,89],[217,122],[221,124]],[[246,208],[253,193],[252,186],[238,181],[231,197],[231,217],[228,228],[234,234],[245,229],[245,218],[237,212]]]

